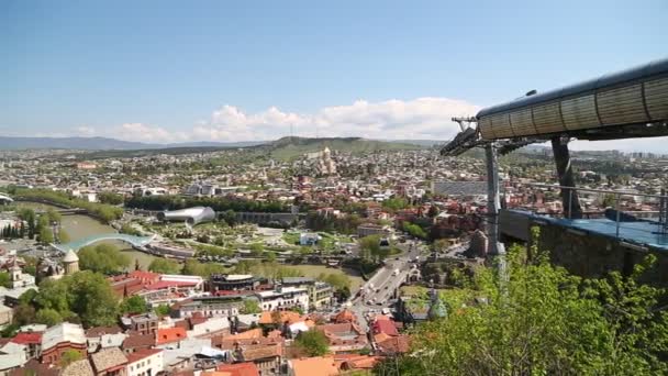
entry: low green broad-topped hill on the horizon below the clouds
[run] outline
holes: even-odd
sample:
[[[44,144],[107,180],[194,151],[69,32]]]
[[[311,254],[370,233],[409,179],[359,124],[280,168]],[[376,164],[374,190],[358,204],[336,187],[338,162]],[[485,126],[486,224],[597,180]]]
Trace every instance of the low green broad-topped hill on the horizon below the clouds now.
[[[353,154],[372,153],[377,151],[400,151],[422,148],[415,144],[365,140],[360,137],[282,137],[266,145],[256,146],[266,150],[271,158],[288,161],[305,153],[320,152],[325,147],[332,151]]]

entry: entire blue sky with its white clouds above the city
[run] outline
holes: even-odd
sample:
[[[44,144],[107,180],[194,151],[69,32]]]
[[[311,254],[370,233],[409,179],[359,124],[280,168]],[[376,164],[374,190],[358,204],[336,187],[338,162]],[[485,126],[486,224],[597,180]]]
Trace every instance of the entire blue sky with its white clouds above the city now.
[[[666,0],[4,0],[0,134],[447,139],[453,114],[668,56],[667,19]]]

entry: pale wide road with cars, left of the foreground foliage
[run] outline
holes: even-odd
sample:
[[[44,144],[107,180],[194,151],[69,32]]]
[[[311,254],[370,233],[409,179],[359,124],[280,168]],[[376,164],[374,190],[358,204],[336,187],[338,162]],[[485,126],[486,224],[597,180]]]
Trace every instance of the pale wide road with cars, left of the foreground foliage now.
[[[407,280],[409,270],[413,265],[411,261],[420,257],[424,245],[420,242],[409,241],[401,244],[401,247],[404,252],[393,258],[388,257],[385,266],[360,286],[359,296],[357,295],[358,291],[355,291],[346,302],[348,308],[357,316],[359,327],[365,331],[368,330],[366,313],[371,309],[380,311],[392,306],[391,300],[394,298],[397,289]]]

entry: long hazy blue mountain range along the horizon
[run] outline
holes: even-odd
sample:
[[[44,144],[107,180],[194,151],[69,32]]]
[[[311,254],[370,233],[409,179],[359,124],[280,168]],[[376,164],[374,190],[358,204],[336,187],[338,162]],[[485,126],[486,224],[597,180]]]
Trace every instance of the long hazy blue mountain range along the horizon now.
[[[172,144],[152,144],[133,141],[122,141],[109,137],[9,137],[0,136],[0,150],[45,150],[45,148],[66,148],[80,151],[138,151],[138,150],[162,150],[181,147],[247,147],[263,144],[274,144],[275,146],[293,145],[325,145],[327,143],[359,143],[359,137],[332,137],[332,139],[304,139],[304,137],[282,137],[277,141],[243,141],[243,142],[185,142]],[[365,140],[371,142],[370,140]],[[441,141],[428,140],[385,140],[374,141],[377,143],[390,143],[401,145],[432,146]],[[378,146],[378,145],[376,145]],[[363,147],[364,148],[364,147]],[[375,147],[371,147],[375,148]],[[377,148],[377,147],[376,147]]]

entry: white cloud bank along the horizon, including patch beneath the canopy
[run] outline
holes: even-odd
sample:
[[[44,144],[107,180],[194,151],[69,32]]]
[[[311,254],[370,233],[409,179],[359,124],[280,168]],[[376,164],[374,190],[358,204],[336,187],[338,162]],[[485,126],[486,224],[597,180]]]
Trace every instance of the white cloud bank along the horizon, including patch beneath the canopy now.
[[[260,141],[298,136],[360,136],[367,139],[448,140],[459,128],[453,117],[475,115],[479,107],[463,100],[423,97],[379,102],[357,100],[352,104],[324,107],[311,113],[296,113],[270,107],[245,112],[224,104],[205,120],[187,130],[133,122],[99,132],[91,126],[76,129],[78,135],[104,135],[127,141],[174,143],[187,141]],[[668,153],[668,137],[571,143],[574,150],[623,150]]]

